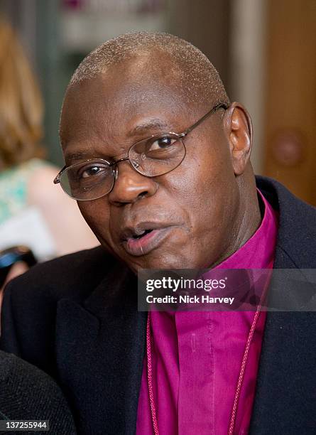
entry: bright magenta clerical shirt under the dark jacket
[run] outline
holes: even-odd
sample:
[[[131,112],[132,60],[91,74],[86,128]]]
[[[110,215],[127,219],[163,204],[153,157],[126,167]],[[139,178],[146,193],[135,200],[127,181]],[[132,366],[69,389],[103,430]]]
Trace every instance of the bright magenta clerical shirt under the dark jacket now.
[[[265,211],[260,227],[244,246],[217,267],[271,267],[278,221],[271,205],[263,195],[261,198]],[[159,435],[227,435],[253,319],[254,312],[249,311],[151,312],[152,383]],[[249,431],[265,320],[266,313],[261,312],[249,348],[234,434]],[[153,434],[146,367],[145,358],[137,435]]]

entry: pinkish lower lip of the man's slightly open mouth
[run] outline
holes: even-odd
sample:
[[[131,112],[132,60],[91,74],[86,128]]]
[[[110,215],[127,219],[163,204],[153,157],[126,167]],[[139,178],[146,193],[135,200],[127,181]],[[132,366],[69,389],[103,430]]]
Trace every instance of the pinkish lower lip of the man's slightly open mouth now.
[[[159,230],[152,230],[140,239],[129,239],[124,242],[126,252],[136,257],[148,254],[153,249],[156,249],[161,243],[165,241],[172,227],[160,228]]]

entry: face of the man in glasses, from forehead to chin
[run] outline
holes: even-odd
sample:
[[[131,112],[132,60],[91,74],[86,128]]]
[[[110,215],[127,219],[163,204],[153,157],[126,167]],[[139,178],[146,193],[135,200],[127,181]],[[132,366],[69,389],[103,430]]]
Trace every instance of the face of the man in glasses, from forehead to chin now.
[[[180,133],[212,108],[190,107],[163,74],[140,70],[129,63],[70,88],[60,128],[67,166],[122,159],[136,141]],[[148,178],[124,161],[108,195],[78,202],[101,244],[134,271],[207,267],[229,252],[238,189],[222,114],[188,134],[185,159],[174,171]]]

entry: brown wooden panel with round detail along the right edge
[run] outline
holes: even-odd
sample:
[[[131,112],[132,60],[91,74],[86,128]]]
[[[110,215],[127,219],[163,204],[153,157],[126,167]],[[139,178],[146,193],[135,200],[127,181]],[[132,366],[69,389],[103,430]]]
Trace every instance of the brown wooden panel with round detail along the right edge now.
[[[316,205],[316,1],[266,3],[264,173]]]

